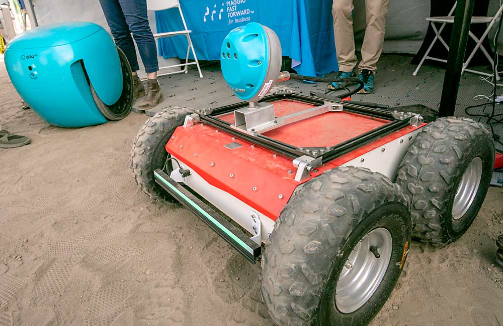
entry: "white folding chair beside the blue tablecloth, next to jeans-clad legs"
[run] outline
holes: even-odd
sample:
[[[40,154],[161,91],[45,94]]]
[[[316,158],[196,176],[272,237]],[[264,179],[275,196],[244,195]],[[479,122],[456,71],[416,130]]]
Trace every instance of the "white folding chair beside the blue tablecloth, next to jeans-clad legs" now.
[[[190,33],[192,31],[187,29],[187,24],[185,23],[184,14],[182,13],[182,8],[180,7],[179,1],[178,0],[147,0],[147,10],[149,10],[149,11],[161,11],[161,10],[165,10],[165,9],[175,8],[175,7],[178,7],[178,10],[180,12],[180,16],[182,17],[182,22],[184,23],[185,30],[175,31],[175,32],[166,32],[166,33],[157,33],[157,34],[154,34],[154,39],[157,41],[158,39],[165,38],[165,37],[172,37],[172,36],[176,36],[176,35],[185,35],[187,37],[187,43],[188,43],[187,57],[185,58],[185,63],[181,63],[179,65],[173,65],[173,66],[159,67],[159,70],[166,69],[166,68],[176,68],[176,67],[185,67],[185,69],[180,70],[180,71],[169,72],[169,73],[161,73],[161,74],[159,74],[159,76],[179,74],[179,73],[183,73],[183,72],[187,73],[189,65],[196,65],[197,70],[199,71],[199,77],[203,78],[203,74],[201,73],[201,67],[199,67],[199,61],[197,60],[196,52],[194,51],[194,46],[192,45],[192,40],[190,38]],[[192,50],[192,54],[194,55],[194,62],[189,62],[189,53],[191,50]]]

